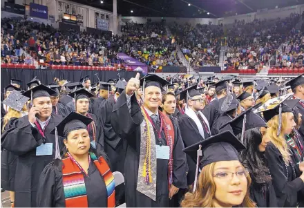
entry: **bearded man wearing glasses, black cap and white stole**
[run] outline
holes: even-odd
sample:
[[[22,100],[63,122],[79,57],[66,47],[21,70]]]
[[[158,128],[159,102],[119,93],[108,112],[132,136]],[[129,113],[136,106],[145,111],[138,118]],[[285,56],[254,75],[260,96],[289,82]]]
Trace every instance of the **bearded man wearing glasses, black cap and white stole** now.
[[[180,93],[180,100],[186,100],[185,113],[179,120],[180,133],[184,141],[184,147],[191,146],[211,136],[209,122],[200,112],[204,108],[202,95],[196,90],[197,84]],[[189,171],[187,175],[188,185],[194,182],[196,175],[196,162],[187,155]]]

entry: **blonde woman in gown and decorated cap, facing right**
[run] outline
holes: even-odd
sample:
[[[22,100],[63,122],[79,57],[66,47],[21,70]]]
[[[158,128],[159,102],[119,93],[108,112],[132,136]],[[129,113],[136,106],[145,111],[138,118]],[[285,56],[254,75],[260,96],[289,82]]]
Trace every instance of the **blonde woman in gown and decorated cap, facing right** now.
[[[283,101],[278,101],[276,106],[265,104],[255,113],[262,111],[267,121],[267,136],[271,142],[266,146],[265,158],[272,175],[278,207],[297,207],[299,200],[297,195],[304,189],[304,173],[301,173],[304,171],[304,162],[293,164],[285,135],[291,133],[296,126],[292,108],[298,100],[295,100],[292,106],[289,106],[290,104],[287,106]],[[281,121],[279,121],[280,117]]]

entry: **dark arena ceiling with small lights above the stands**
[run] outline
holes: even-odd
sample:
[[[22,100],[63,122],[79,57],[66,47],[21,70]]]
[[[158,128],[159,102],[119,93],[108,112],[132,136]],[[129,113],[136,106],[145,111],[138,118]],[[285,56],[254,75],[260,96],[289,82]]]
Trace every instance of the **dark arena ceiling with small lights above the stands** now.
[[[100,3],[101,0],[73,1],[113,11],[113,0],[102,0],[103,3]],[[117,13],[135,17],[219,18],[301,3],[304,0],[117,0]]]

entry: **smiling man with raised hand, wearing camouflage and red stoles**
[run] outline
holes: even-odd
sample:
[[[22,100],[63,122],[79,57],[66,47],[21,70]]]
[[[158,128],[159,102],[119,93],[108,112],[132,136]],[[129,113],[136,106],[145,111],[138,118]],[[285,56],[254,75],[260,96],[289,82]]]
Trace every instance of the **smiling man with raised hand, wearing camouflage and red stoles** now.
[[[178,124],[158,111],[160,88],[168,82],[157,75],[142,78],[147,83],[143,84],[144,105],[140,108],[134,93],[140,85],[138,78],[139,73],[129,80],[111,115],[113,129],[128,142],[124,169],[126,206],[169,207],[169,197],[179,188],[187,188],[184,145]],[[162,145],[158,146],[162,155],[156,155],[156,145]],[[148,164],[146,168],[144,164]]]

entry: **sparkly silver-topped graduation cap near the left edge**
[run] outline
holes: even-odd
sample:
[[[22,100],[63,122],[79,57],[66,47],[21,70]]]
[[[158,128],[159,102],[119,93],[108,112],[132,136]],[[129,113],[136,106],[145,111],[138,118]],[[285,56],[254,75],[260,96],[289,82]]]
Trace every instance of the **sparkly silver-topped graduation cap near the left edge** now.
[[[9,106],[16,111],[21,111],[28,100],[28,97],[23,96],[19,91],[14,90],[6,97],[6,100],[3,100],[3,104],[6,104],[6,106]]]

